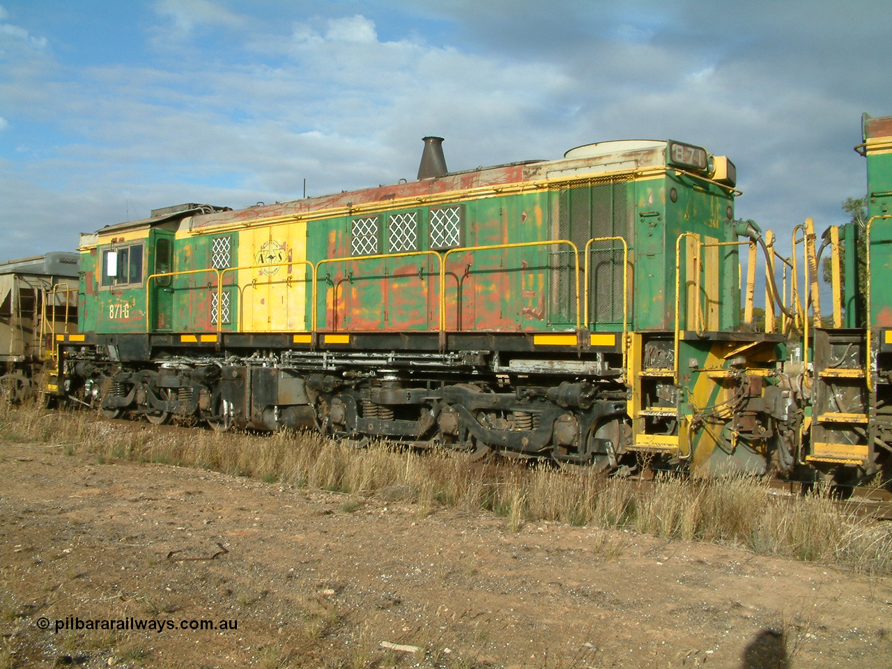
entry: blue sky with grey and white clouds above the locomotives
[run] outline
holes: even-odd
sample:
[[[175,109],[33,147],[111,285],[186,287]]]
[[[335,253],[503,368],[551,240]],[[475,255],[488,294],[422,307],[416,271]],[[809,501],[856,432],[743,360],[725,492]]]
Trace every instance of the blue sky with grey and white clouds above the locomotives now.
[[[728,155],[786,240],[866,191],[888,0],[0,0],[0,260],[153,209],[235,209],[612,139]],[[789,245],[789,241],[786,242]]]

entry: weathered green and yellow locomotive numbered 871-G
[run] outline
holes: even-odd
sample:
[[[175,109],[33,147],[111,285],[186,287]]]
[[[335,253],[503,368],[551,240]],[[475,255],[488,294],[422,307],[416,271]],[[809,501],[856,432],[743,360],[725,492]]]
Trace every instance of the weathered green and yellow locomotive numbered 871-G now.
[[[625,141],[449,172],[441,142],[414,181],[82,235],[51,387],[220,430],[793,467],[784,337],[740,322],[739,246],[748,317],[762,240],[735,223],[731,161]]]

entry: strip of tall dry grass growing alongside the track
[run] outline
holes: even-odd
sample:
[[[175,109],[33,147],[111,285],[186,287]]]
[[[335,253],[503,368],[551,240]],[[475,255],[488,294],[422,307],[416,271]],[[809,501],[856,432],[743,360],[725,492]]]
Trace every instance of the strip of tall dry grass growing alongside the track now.
[[[65,453],[203,467],[268,483],[337,491],[352,508],[363,497],[490,511],[517,532],[542,520],[628,529],[667,539],[711,541],[759,554],[892,573],[892,528],[847,516],[826,491],[772,495],[749,477],[659,478],[642,483],[547,464],[472,464],[460,454],[401,450],[386,443],[356,450],[318,434],[269,436],[120,429],[87,412],[0,406],[0,441],[46,444]],[[347,512],[352,508],[345,508]]]

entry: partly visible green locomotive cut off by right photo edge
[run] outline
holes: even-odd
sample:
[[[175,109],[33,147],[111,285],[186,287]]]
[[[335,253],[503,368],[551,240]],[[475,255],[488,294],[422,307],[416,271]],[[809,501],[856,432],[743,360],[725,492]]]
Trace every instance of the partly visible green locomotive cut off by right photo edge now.
[[[805,461],[851,482],[883,471],[888,480],[892,465],[892,117],[864,114],[862,128],[867,219],[825,233],[832,322],[813,310],[819,327],[806,342],[814,392]]]

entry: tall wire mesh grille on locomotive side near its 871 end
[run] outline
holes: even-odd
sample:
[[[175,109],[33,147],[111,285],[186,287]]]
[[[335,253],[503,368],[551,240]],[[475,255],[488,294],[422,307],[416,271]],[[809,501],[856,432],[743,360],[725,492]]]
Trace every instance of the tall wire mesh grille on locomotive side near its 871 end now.
[[[552,191],[552,229],[556,238],[567,239],[579,250],[580,300],[584,298],[585,246],[598,237],[623,237],[632,247],[629,194],[632,177],[596,178]],[[554,246],[551,252],[551,321],[575,320],[573,250]],[[589,256],[589,320],[596,325],[623,321],[623,247],[617,240],[592,242]],[[629,307],[632,307],[630,268]],[[584,310],[584,305],[583,305]]]

